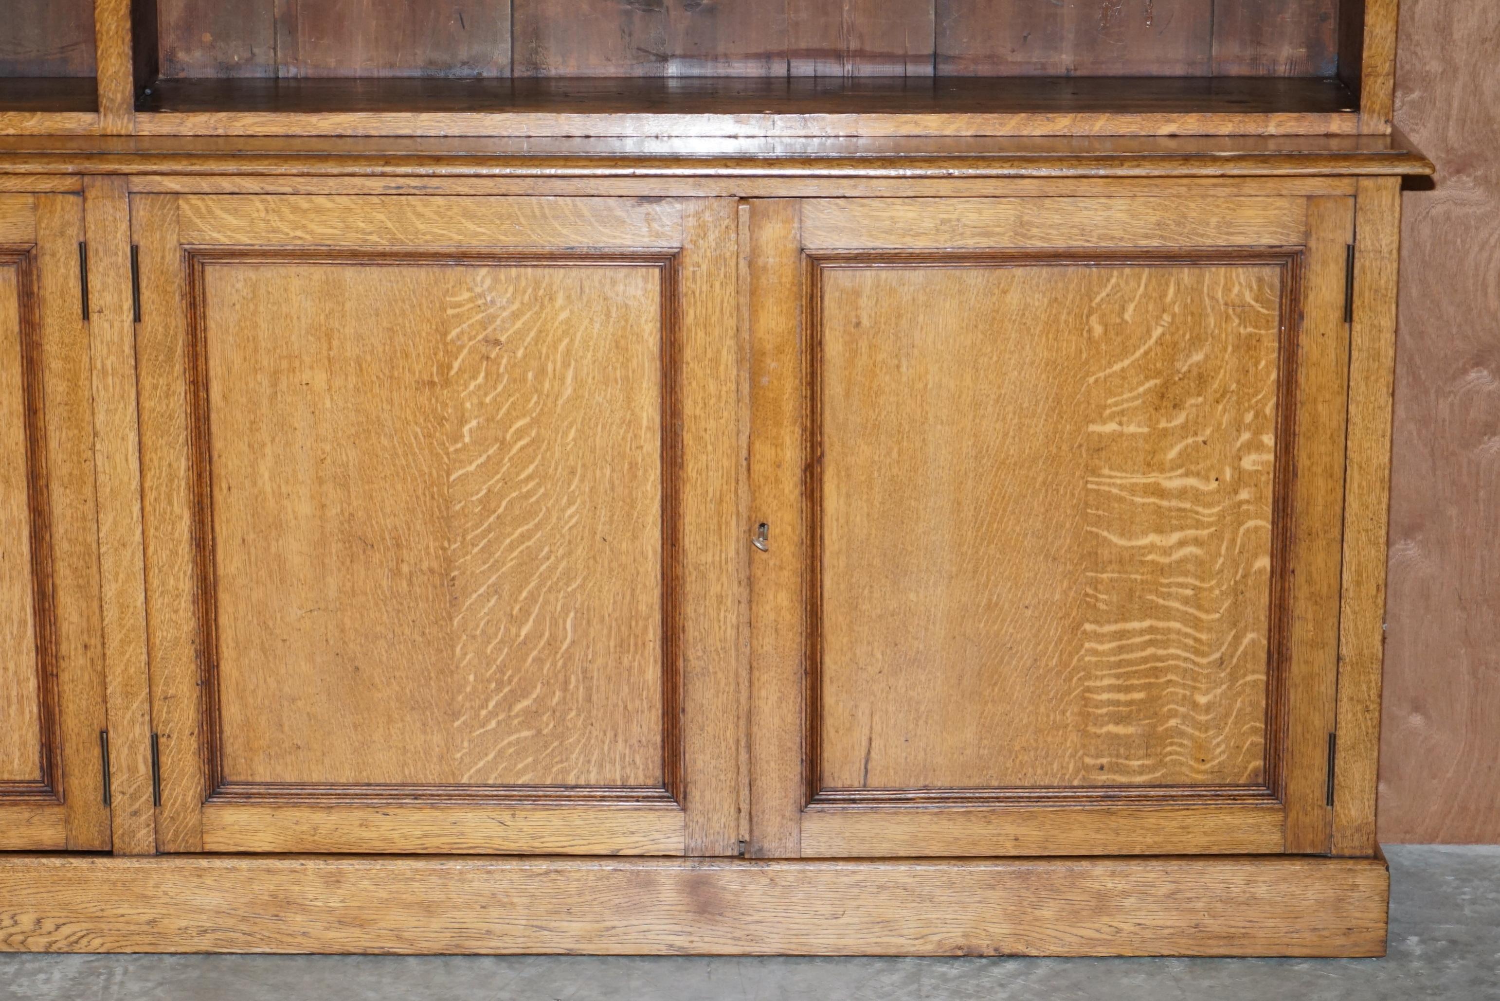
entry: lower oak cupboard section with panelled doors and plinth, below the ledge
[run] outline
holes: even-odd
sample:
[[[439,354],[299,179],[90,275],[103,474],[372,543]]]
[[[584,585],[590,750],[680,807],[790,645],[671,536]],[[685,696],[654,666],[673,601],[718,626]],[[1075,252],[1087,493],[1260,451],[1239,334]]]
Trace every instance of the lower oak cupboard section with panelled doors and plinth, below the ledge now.
[[[0,947],[1380,955],[1328,189],[0,196]]]

